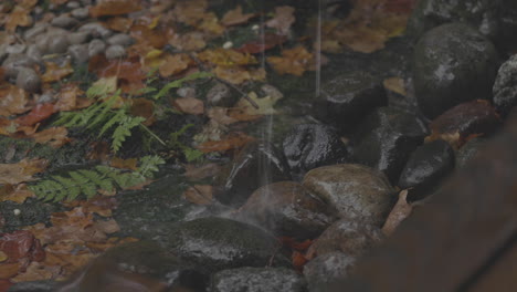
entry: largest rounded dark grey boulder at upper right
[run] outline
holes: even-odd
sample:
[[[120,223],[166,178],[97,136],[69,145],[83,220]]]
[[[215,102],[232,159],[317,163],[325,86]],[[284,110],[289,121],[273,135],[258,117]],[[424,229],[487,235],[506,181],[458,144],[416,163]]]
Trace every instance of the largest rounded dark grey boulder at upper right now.
[[[497,72],[495,46],[463,23],[426,32],[413,53],[413,83],[420,109],[434,118],[463,102],[486,100]]]

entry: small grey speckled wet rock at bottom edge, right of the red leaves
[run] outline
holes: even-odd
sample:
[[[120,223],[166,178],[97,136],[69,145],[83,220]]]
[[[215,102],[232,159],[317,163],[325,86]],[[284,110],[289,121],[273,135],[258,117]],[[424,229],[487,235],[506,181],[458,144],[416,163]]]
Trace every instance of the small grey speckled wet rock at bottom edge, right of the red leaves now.
[[[326,253],[304,267],[309,292],[333,291],[328,285],[347,278],[354,269],[356,258],[342,252]]]

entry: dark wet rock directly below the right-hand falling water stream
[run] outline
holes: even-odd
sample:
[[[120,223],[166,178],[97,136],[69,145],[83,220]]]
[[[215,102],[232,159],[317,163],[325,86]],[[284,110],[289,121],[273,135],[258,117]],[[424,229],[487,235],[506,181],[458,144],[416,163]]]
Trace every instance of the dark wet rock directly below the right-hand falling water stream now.
[[[348,131],[374,107],[387,103],[380,79],[366,72],[350,72],[321,85],[314,111],[318,119]]]

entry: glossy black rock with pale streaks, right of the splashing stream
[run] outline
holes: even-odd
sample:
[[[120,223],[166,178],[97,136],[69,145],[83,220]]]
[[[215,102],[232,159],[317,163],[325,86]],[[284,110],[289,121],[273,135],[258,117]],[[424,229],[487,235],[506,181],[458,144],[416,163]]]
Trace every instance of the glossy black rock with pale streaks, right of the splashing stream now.
[[[283,143],[291,170],[305,174],[318,166],[344,163],[347,148],[337,132],[327,125],[296,125]]]

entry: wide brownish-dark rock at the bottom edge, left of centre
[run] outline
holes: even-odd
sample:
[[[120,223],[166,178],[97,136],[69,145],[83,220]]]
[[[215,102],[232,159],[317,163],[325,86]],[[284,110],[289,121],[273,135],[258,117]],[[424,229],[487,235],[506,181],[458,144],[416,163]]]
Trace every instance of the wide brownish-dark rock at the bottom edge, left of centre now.
[[[109,249],[56,291],[205,291],[208,281],[157,243],[139,241]]]

